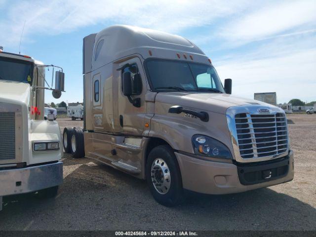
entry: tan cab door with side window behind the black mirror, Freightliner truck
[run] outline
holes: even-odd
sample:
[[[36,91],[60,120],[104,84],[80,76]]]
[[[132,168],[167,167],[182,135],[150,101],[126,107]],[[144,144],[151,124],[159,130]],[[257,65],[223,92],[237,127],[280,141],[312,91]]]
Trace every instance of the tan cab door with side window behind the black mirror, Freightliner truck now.
[[[125,65],[125,66],[124,66]],[[123,67],[122,67],[123,66]],[[144,117],[146,115],[145,94],[147,83],[144,69],[138,57],[129,59],[120,65],[118,81],[118,126],[120,132],[126,135],[141,136],[144,130]],[[140,99],[140,106],[133,105],[122,91],[122,75],[130,72],[132,78],[131,99]]]

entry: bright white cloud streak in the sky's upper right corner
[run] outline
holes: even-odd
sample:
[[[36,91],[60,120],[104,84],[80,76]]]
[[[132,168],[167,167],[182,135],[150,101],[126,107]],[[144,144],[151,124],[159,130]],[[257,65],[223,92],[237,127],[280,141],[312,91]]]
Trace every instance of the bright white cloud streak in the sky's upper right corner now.
[[[296,27],[315,26],[315,12],[315,0],[276,2],[232,20],[220,35],[237,44],[265,39]]]

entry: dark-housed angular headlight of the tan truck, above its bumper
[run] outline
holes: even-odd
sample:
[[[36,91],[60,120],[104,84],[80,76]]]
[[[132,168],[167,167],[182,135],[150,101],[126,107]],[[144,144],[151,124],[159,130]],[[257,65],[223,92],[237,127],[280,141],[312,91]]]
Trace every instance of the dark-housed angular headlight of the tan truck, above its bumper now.
[[[192,144],[196,155],[214,158],[232,158],[228,147],[214,138],[197,134],[192,137]]]

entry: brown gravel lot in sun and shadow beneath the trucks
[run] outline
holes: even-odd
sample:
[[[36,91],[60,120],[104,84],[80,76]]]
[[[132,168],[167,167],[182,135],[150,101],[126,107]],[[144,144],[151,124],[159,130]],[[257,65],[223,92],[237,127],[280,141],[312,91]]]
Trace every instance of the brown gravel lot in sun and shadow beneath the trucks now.
[[[316,115],[290,115],[292,182],[241,194],[190,195],[167,208],[146,182],[65,154],[55,199],[4,197],[0,230],[316,230]],[[58,119],[64,126],[82,121]]]

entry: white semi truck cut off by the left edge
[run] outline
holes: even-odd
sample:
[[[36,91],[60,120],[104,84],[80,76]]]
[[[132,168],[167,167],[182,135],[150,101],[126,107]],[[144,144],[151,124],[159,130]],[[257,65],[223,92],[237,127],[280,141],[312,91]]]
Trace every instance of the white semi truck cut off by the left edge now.
[[[44,89],[59,98],[64,73],[56,72],[53,89],[46,67],[55,68],[0,50],[0,210],[2,196],[53,197],[63,181],[61,134],[53,114],[44,120]]]

